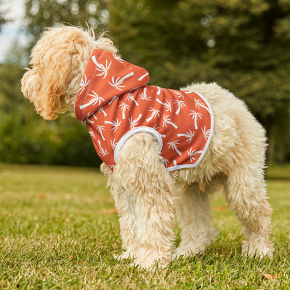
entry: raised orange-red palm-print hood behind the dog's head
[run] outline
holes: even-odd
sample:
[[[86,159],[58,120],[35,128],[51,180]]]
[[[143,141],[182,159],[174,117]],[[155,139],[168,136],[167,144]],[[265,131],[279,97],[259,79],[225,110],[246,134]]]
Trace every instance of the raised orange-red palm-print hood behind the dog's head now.
[[[77,119],[88,119],[114,98],[138,89],[148,82],[149,74],[144,68],[119,59],[106,50],[95,49],[79,87],[75,104]]]

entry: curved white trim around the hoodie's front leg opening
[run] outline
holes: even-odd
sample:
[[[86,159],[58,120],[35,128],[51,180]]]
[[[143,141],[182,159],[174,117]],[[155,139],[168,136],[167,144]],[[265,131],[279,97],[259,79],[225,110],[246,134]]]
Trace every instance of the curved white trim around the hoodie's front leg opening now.
[[[121,137],[121,139],[119,140],[115,150],[114,150],[114,160],[115,163],[117,164],[118,162],[118,155],[119,152],[121,151],[121,148],[123,147],[123,145],[125,144],[125,142],[132,137],[132,135],[139,133],[139,132],[146,132],[146,133],[150,133],[151,135],[153,135],[156,139],[157,139],[157,143],[158,143],[158,152],[160,153],[163,147],[163,141],[162,141],[162,137],[160,135],[159,132],[157,132],[155,129],[150,128],[150,127],[146,127],[146,126],[140,126],[137,128],[134,128],[130,131],[128,131],[127,133],[125,133],[125,135],[123,135]]]

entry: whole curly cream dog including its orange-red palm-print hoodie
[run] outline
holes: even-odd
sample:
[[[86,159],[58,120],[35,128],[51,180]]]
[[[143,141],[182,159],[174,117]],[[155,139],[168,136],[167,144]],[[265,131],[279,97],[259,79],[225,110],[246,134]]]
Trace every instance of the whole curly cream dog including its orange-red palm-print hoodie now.
[[[121,258],[151,268],[203,252],[217,236],[210,197],[220,185],[243,225],[243,252],[273,252],[265,132],[244,102],[215,83],[182,91],[147,86],[146,70],[116,53],[104,36],[47,29],[22,92],[44,119],[69,112],[86,121],[119,212]],[[175,213],[182,229],[176,249]]]

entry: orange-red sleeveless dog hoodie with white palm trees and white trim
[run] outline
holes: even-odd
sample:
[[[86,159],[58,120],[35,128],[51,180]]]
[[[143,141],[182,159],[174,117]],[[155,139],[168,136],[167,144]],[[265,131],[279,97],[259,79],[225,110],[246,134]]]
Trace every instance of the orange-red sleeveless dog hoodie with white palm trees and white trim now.
[[[196,167],[213,134],[213,113],[195,91],[149,86],[148,72],[95,49],[79,88],[75,113],[86,121],[100,159],[112,170],[128,138],[138,132],[158,142],[167,171]]]

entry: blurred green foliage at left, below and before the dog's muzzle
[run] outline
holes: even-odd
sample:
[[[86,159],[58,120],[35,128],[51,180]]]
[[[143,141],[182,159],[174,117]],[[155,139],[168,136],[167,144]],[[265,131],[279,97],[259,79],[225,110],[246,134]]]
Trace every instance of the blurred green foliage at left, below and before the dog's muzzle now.
[[[24,100],[15,64],[0,66],[0,160],[2,162],[98,166],[86,126],[61,116],[45,121]]]

